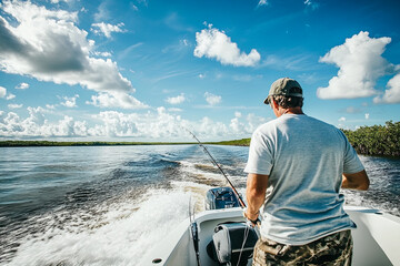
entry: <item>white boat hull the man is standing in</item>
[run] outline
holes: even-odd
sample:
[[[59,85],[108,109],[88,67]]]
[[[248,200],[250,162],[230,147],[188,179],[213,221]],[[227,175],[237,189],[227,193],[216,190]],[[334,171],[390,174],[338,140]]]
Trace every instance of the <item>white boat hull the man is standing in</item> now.
[[[347,206],[346,212],[357,224],[352,229],[354,266],[400,265],[400,217],[381,213],[377,209]],[[240,207],[209,209],[190,218],[160,239],[143,257],[141,265],[164,266],[213,266],[216,262],[207,246],[212,242],[212,235],[218,224],[226,222],[244,222]],[[194,252],[191,225],[198,229],[198,258]],[[196,237],[194,237],[196,238]],[[199,263],[198,263],[199,259]],[[232,264],[236,265],[236,264]],[[251,257],[247,265],[251,265]]]

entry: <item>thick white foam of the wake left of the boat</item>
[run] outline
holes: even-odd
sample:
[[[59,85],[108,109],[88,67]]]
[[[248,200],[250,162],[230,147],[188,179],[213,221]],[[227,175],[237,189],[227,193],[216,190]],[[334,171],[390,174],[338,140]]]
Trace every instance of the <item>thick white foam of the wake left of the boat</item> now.
[[[188,217],[190,196],[183,191],[151,191],[139,204],[112,206],[96,223],[79,225],[83,229],[64,224],[27,238],[8,265],[138,265],[147,249]]]

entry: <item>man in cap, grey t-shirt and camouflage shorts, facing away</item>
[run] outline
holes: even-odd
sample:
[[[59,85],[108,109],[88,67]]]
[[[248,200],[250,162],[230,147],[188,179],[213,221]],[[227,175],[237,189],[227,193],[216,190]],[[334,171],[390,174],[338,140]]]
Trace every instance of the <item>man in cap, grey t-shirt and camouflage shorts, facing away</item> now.
[[[244,216],[262,219],[253,266],[350,265],[354,224],[339,190],[368,190],[363,165],[340,130],[302,112],[296,80],[273,82],[264,103],[277,119],[254,131],[244,168]]]

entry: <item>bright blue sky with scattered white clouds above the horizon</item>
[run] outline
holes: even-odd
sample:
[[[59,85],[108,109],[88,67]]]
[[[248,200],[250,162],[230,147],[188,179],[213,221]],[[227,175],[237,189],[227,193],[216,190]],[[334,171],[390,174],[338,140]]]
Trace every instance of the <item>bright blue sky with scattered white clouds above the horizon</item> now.
[[[400,117],[399,1],[0,0],[0,140],[250,137],[279,78],[307,115]]]

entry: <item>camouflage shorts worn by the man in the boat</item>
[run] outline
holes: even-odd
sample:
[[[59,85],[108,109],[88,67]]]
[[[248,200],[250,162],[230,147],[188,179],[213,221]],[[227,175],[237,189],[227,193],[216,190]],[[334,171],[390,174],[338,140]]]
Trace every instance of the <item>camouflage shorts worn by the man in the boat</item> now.
[[[276,265],[351,265],[352,238],[342,231],[302,246],[259,239],[254,246],[252,266]]]

